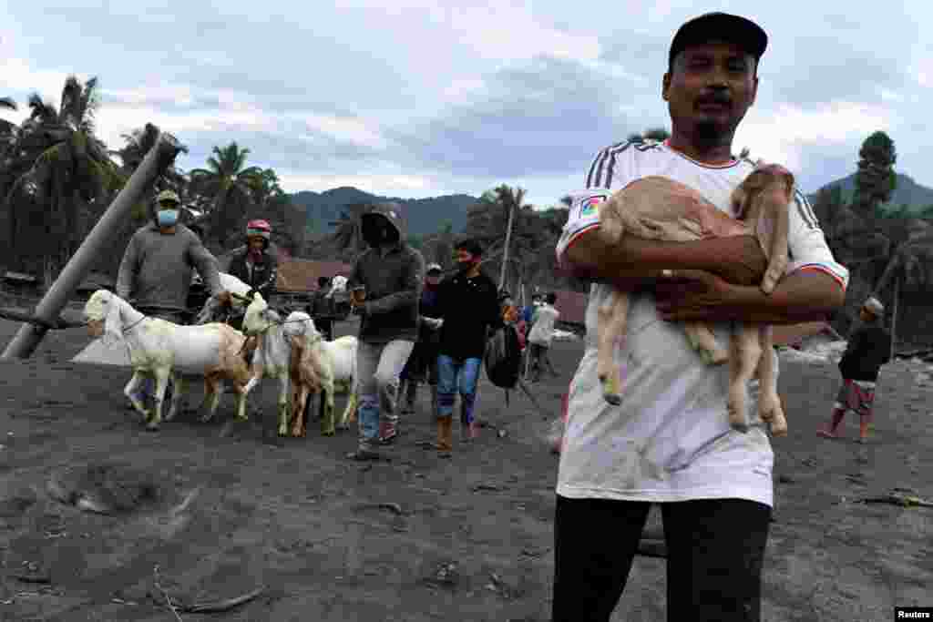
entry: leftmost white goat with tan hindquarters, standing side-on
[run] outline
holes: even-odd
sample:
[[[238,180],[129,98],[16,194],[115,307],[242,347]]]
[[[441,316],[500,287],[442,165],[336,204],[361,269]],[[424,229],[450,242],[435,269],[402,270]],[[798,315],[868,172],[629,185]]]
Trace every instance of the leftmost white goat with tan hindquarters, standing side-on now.
[[[162,401],[169,376],[174,377],[172,408],[165,421],[171,421],[178,411],[184,390],[183,374],[203,374],[204,402],[209,405],[203,422],[210,421],[220,402],[220,381],[232,380],[237,393],[237,419],[246,419],[246,390],[249,367],[241,355],[244,336],[224,324],[202,326],[176,325],[159,318],[150,318],[132,308],[129,302],[105,289],[91,295],[84,306],[88,330],[92,337],[102,337],[104,343],[124,339],[130,351],[132,379],[123,393],[146,421],[146,428],[158,430]],[[136,388],[143,377],[156,380],[155,407],[146,410],[136,397]]]

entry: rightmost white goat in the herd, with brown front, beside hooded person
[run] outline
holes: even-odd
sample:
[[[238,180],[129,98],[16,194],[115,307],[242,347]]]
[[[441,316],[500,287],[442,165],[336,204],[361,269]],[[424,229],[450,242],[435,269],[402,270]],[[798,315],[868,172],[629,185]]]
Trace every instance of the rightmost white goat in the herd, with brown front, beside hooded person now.
[[[285,335],[292,341],[292,435],[305,432],[305,406],[309,394],[321,392],[326,400],[321,434],[334,435],[334,394],[348,394],[337,427],[346,429],[356,412],[356,338],[326,341],[314,327],[311,316],[292,311],[285,318]]]

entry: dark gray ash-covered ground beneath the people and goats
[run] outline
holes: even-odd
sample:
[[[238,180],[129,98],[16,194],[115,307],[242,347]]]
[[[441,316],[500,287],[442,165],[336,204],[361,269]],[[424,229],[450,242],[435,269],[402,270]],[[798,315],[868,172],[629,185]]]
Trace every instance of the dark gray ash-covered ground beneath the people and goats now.
[[[16,327],[0,323],[0,342]],[[550,619],[556,459],[549,422],[522,394],[507,408],[484,384],[489,426],[451,461],[418,446],[433,435],[420,395],[392,462],[361,465],[342,458],[355,433],[276,438],[272,381],[251,400],[262,422],[229,423],[226,395],[216,422],[186,414],[147,434],[124,408],[127,370],[68,362],[89,340],[57,331],[33,359],[0,364],[0,619],[175,619],[149,596],[156,564],[181,603],[266,587],[186,621]],[[561,377],[535,385],[554,414],[579,355],[578,342],[558,344]],[[896,604],[933,604],[933,508],[854,503],[895,487],[933,498],[933,387],[907,364],[886,368],[873,442],[859,446],[854,421],[850,440],[814,435],[836,381],[831,365],[782,364],[791,432],[774,443],[764,620],[888,620]],[[89,463],[145,468],[165,490],[118,517],[49,497],[49,477]],[[614,619],[665,619],[663,560],[636,560]]]

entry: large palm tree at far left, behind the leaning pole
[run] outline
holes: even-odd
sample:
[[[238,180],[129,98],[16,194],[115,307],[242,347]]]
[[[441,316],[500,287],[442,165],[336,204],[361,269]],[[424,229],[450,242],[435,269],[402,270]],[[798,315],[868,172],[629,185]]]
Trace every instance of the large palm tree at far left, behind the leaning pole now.
[[[34,93],[29,98],[31,114],[14,147],[19,164],[31,161],[31,165],[17,177],[7,200],[12,207],[24,194],[47,206],[42,241],[47,287],[80,242],[80,214],[119,184],[104,143],[94,135],[99,104],[96,77],[82,84],[76,76],[68,76],[57,110]]]

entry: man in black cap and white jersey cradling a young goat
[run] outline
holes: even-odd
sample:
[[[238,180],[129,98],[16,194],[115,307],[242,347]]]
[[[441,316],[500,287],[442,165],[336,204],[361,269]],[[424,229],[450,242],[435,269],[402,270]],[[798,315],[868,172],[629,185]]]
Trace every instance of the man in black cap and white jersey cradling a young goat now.
[[[757,24],[709,13],[676,33],[663,76],[671,138],[610,145],[586,173],[558,243],[561,265],[592,280],[587,333],[613,288],[631,292],[617,346],[623,397],[603,399],[595,339],[570,385],[554,521],[554,622],[607,622],[619,601],[651,504],[667,545],[667,619],[760,617],[761,564],[773,505],[773,453],[749,399],[746,433],[727,416],[729,366],[707,366],[682,320],[825,319],[842,306],[848,271],[829,252],[800,192],[789,206],[787,274],[770,296],[752,236],[698,242],[601,241],[599,203],[649,175],[685,184],[731,213],[730,194],[755,164],[731,155],[755,102],[767,36]],[[663,277],[672,270],[675,278]]]

